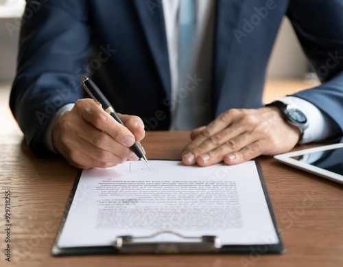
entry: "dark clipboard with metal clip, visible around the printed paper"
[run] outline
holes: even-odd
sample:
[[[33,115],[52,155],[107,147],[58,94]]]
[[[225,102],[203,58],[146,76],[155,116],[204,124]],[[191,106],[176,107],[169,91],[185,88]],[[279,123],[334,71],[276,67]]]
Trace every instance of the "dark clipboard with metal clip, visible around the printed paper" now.
[[[134,235],[121,235],[113,236],[113,244],[111,246],[82,246],[82,247],[69,247],[61,248],[58,246],[58,240],[60,238],[62,229],[67,220],[68,213],[75,196],[75,191],[78,188],[80,181],[80,174],[75,180],[73,189],[69,196],[64,216],[58,230],[56,242],[51,250],[53,256],[64,256],[64,255],[98,255],[98,254],[177,254],[177,253],[259,253],[263,254],[281,254],[286,252],[285,245],[281,236],[279,225],[274,215],[272,208],[272,202],[268,193],[267,185],[263,176],[261,165],[255,161],[257,172],[259,174],[259,180],[267,202],[270,216],[272,218],[272,224],[276,231],[276,235],[279,238],[279,242],[276,244],[228,244],[221,245],[220,237],[215,235],[202,235],[202,236],[189,236],[182,235],[177,231],[156,231],[152,235],[134,236]],[[152,237],[168,233],[175,235],[180,238],[180,242],[151,242]]]

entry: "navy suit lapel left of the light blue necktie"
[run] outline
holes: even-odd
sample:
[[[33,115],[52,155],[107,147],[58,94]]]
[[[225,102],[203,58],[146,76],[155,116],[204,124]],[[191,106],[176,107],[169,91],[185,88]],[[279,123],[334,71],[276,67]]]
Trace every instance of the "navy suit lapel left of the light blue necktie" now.
[[[161,77],[165,93],[169,96],[171,84],[163,6],[161,1],[152,0],[134,0],[133,3],[137,8],[137,14],[147,38],[152,58],[154,58],[156,70]]]

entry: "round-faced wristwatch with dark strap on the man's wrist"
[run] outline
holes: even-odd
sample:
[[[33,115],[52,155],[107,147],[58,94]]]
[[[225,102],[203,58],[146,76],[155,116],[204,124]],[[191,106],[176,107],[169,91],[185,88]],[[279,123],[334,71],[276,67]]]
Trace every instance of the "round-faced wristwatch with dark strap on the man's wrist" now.
[[[304,131],[309,127],[309,122],[307,121],[307,117],[303,111],[300,111],[296,105],[274,101],[270,104],[266,104],[265,106],[275,106],[276,108],[279,108],[283,115],[283,119],[285,119],[288,124],[298,128],[300,131],[299,141],[303,138]]]

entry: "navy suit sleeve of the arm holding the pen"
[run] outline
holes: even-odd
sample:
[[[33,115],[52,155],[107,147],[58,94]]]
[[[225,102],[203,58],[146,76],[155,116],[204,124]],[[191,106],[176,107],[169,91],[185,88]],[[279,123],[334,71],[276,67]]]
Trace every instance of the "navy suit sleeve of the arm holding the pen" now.
[[[38,156],[51,154],[41,142],[51,117],[83,97],[80,76],[90,47],[86,3],[27,0],[10,108]]]

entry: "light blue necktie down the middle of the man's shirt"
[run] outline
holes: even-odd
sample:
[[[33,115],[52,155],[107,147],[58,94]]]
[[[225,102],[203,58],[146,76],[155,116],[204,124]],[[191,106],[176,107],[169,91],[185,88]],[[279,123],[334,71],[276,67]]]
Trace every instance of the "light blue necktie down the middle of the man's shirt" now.
[[[179,51],[178,51],[178,88],[176,89],[176,106],[171,122],[171,130],[192,130],[211,121],[211,91],[202,76],[202,66],[198,65],[198,55],[204,47],[196,43],[198,0],[179,0]],[[207,51],[211,53],[211,50]],[[205,56],[205,57],[204,57]],[[209,63],[210,64],[210,63]],[[199,73],[198,73],[199,71]],[[194,82],[198,77],[204,82]]]

